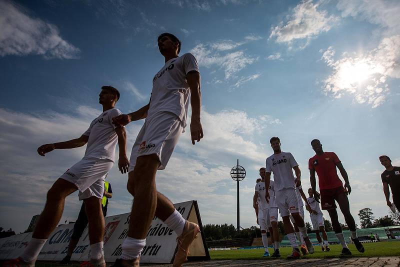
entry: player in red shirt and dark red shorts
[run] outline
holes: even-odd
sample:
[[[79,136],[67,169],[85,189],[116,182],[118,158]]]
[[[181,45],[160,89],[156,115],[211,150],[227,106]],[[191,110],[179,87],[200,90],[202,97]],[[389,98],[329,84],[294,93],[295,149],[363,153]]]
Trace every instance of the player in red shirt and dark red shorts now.
[[[348,182],[347,172],[341,164],[340,159],[334,152],[324,152],[322,150],[322,144],[318,139],[313,139],[311,141],[311,146],[315,151],[315,155],[308,160],[308,169],[310,173],[309,179],[311,182],[312,192],[315,199],[318,201],[319,193],[315,189],[316,171],[316,174],[318,174],[321,208],[327,210],[329,213],[333,230],[343,247],[341,255],[351,255],[351,252],[344,241],[344,236],[337,218],[335,200],[339,204],[340,211],[343,213],[344,220],[350,229],[351,240],[354,242],[355,247],[359,252],[364,252],[364,247],[358,240],[355,232],[356,228],[354,218],[350,213],[347,194],[351,192],[351,187]],[[339,169],[340,174],[344,179],[344,187],[339,176],[337,175],[336,167]]]

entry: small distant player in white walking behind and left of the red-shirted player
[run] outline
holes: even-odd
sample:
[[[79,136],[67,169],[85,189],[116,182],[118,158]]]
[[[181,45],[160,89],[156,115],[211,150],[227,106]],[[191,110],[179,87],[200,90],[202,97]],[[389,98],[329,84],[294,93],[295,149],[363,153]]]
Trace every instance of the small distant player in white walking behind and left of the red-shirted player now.
[[[308,188],[307,201],[309,203],[309,216],[311,218],[312,229],[315,231],[316,239],[318,240],[319,245],[321,246],[322,251],[329,251],[330,248],[328,246],[328,236],[325,231],[325,224],[323,222],[323,214],[319,207],[319,202],[314,198],[314,194],[312,192],[312,188]],[[322,233],[323,243],[321,240],[321,236],[319,236],[319,231]]]

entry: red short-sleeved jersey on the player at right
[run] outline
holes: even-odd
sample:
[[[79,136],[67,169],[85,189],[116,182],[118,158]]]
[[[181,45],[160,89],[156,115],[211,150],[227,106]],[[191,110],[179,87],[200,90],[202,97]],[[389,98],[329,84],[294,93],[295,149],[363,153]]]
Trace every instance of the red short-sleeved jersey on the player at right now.
[[[319,189],[330,189],[342,186],[343,183],[337,176],[336,163],[340,159],[334,152],[323,152],[308,159],[308,169],[314,169],[318,174]]]

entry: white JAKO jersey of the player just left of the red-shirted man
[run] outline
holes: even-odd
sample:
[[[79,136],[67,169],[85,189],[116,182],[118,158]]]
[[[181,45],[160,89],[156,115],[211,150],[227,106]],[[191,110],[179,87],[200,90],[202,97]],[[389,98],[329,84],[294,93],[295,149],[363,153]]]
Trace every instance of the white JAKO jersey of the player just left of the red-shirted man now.
[[[296,160],[289,152],[272,154],[265,160],[265,171],[273,172],[275,191],[283,188],[294,188],[294,175],[292,167],[298,166]]]

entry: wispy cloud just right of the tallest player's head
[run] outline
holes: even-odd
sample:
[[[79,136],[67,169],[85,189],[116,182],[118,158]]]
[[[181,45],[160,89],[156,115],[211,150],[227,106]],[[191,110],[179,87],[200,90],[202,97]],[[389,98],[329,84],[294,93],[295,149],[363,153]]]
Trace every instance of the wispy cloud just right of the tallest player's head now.
[[[224,70],[225,79],[229,79],[247,65],[254,63],[257,57],[246,55],[244,50],[221,54],[213,44],[198,43],[190,52],[197,58],[198,64],[205,67],[217,65]]]

